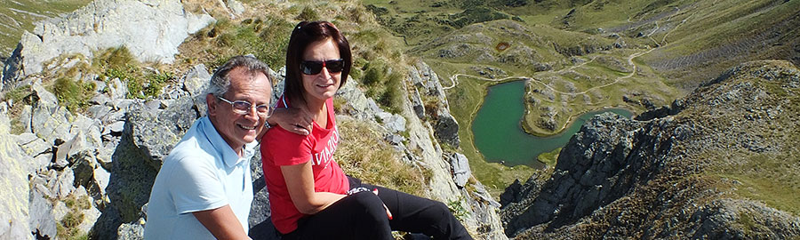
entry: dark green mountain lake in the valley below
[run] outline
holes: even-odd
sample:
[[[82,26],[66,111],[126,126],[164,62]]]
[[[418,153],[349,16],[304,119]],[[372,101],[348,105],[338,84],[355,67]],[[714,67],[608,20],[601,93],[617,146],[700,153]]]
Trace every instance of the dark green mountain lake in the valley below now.
[[[524,91],[524,81],[489,87],[484,105],[478,110],[472,122],[476,148],[484,155],[487,162],[540,168],[542,164],[536,157],[564,147],[572,135],[580,130],[580,126],[592,116],[605,112],[632,116],[630,111],[620,108],[588,112],[580,115],[563,132],[548,137],[537,137],[524,132],[520,125],[525,108]]]

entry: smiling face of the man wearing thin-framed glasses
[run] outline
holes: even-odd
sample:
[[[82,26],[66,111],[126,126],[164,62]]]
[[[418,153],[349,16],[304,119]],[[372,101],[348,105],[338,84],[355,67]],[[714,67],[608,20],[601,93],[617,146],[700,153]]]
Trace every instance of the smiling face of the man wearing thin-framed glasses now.
[[[272,84],[263,73],[257,72],[251,75],[239,67],[232,69],[228,76],[230,89],[225,92],[223,98],[230,101],[245,100],[253,106],[269,104]],[[267,121],[267,117],[259,116],[255,108],[251,108],[246,115],[237,114],[228,102],[219,100],[211,94],[206,96],[206,102],[208,114],[212,117],[217,132],[220,132],[222,139],[237,153],[245,143],[256,140],[264,128],[264,122]]]

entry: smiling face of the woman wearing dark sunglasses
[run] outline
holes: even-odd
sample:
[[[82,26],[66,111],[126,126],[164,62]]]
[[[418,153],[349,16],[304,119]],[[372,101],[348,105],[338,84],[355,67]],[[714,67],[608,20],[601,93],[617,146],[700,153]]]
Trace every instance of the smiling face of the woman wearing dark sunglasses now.
[[[332,38],[308,44],[306,51],[303,52],[303,61],[325,62],[330,60],[340,60],[339,47],[333,43]],[[330,64],[328,64],[330,65]],[[301,70],[302,72],[302,70]],[[304,98],[307,101],[324,101],[336,94],[341,84],[341,70],[332,71],[329,66],[325,66],[319,73],[308,75],[301,73],[303,80]]]

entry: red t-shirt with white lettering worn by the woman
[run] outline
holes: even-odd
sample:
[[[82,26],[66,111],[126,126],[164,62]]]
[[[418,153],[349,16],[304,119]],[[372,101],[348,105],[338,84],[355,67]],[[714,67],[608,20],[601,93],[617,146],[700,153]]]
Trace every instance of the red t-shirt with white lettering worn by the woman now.
[[[284,102],[281,98],[278,107],[284,107]],[[280,166],[312,161],[316,192],[346,194],[349,189],[347,176],[341,171],[339,164],[333,161],[333,152],[340,140],[333,113],[333,100],[326,100],[325,105],[328,128],[314,122],[311,134],[303,136],[275,127],[261,138],[261,163],[269,191],[272,222],[284,234],[297,229],[297,220],[305,214],[300,213],[292,203]]]

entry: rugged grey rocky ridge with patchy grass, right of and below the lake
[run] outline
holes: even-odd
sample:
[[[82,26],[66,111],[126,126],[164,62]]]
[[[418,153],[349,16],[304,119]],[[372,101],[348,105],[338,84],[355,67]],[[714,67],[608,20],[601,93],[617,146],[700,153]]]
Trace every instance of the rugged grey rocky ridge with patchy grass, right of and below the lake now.
[[[647,121],[596,116],[564,147],[540,190],[522,197],[523,186],[536,183],[507,190],[506,233],[521,239],[798,237],[800,218],[741,196],[736,188],[757,187],[736,187],[735,179],[753,173],[730,170],[752,157],[796,162],[796,134],[758,135],[800,129],[798,94],[795,66],[756,61],[640,118]]]

